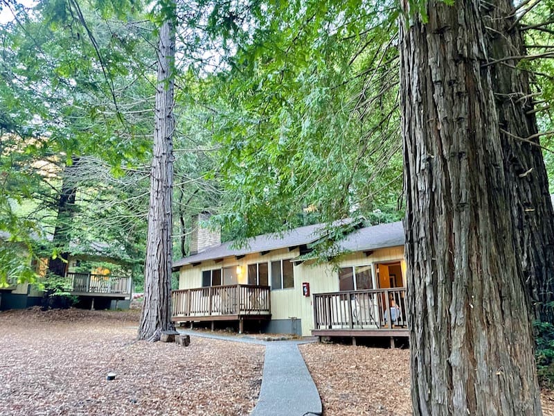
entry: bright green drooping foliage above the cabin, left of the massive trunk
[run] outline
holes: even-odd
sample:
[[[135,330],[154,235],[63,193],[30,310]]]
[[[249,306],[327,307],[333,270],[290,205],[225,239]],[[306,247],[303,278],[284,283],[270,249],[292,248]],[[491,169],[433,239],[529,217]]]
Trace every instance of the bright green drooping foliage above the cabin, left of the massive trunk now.
[[[251,10],[229,69],[201,89],[222,161],[214,176],[225,209],[215,220],[240,237],[395,205],[397,70],[375,62],[397,60],[396,4],[256,2]]]

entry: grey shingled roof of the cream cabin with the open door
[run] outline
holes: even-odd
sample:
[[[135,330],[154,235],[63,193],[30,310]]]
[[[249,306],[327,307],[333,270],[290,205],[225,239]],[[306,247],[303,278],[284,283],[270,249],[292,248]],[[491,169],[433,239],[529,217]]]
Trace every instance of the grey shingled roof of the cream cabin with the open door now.
[[[211,248],[185,257],[173,263],[177,269],[186,264],[200,263],[206,260],[224,259],[231,256],[244,256],[256,252],[268,252],[281,248],[292,248],[299,245],[308,245],[322,238],[328,229],[325,224],[307,225],[291,229],[284,233],[271,233],[256,236],[246,241],[244,248],[233,249],[233,241],[214,245]],[[394,247],[404,244],[404,228],[402,223],[380,224],[373,227],[355,229],[341,241],[342,251],[375,250],[377,248]]]

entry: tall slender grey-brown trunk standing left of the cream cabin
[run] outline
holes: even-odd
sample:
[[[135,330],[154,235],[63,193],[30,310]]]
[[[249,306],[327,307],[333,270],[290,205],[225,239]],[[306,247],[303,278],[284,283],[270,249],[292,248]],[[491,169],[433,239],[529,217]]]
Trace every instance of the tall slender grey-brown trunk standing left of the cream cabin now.
[[[144,303],[138,334],[141,340],[174,329],[171,322],[174,59],[175,28],[172,19],[166,18],[159,33]]]

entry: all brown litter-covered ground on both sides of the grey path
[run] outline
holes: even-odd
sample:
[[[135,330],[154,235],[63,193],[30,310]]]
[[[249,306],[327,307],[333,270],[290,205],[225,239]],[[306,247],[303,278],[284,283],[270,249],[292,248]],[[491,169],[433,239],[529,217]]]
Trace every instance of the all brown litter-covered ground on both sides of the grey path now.
[[[249,414],[260,392],[262,345],[137,342],[139,314],[0,312],[0,415]],[[411,415],[407,349],[300,349],[325,416]],[[107,381],[111,371],[116,379]],[[543,390],[542,404],[554,416],[554,392]]]

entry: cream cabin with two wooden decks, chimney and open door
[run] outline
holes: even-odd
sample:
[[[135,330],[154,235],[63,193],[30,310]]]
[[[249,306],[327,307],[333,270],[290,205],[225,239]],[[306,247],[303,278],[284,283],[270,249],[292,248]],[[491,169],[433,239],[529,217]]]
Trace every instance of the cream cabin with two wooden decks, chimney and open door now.
[[[298,336],[408,336],[402,223],[350,223],[330,261],[311,253],[323,224],[248,239],[243,248],[194,221],[191,254],[174,263],[172,320],[256,323]],[[331,257],[331,255],[330,255]]]

